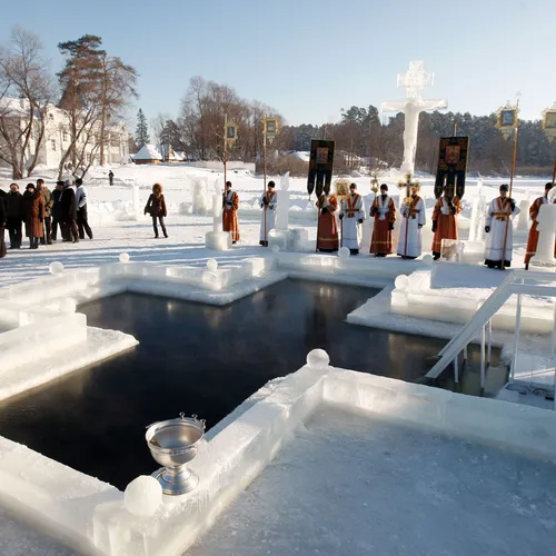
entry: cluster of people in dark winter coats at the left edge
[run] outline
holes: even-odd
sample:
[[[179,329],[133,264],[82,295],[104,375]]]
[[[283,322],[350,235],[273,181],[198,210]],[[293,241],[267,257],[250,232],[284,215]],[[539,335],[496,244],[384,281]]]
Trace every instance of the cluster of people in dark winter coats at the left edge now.
[[[62,241],[77,244],[86,235],[92,239],[82,180],[77,179],[75,185],[72,179],[59,180],[53,191],[42,178],[28,183],[23,193],[18,183],[11,183],[9,191],[0,189],[0,257],[7,254],[4,230],[8,230],[10,249],[20,249],[23,226],[29,249],[52,245],[58,239],[58,230]]]

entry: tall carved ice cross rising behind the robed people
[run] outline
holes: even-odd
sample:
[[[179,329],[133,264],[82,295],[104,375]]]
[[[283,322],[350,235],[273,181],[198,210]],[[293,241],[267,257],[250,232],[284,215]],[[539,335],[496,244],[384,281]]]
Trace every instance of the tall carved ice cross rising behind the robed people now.
[[[407,73],[398,73],[398,87],[406,88],[406,100],[389,100],[383,102],[380,112],[404,112],[406,123],[404,129],[404,162],[400,170],[404,173],[414,173],[415,153],[417,151],[417,132],[419,129],[419,113],[430,110],[444,110],[448,108],[448,101],[425,100],[421,91],[431,86],[435,75],[426,72],[423,61],[410,61]]]

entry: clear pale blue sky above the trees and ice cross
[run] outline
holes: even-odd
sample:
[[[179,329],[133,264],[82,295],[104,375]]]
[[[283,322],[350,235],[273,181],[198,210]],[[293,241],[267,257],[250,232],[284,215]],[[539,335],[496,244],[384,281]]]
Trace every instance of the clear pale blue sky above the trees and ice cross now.
[[[60,41],[91,33],[140,73],[137,108],[176,117],[189,78],[232,86],[290,123],[396,100],[409,60],[429,98],[484,115],[522,92],[522,117],[556,101],[555,0],[28,0],[3,2],[0,42],[21,24],[58,71]]]

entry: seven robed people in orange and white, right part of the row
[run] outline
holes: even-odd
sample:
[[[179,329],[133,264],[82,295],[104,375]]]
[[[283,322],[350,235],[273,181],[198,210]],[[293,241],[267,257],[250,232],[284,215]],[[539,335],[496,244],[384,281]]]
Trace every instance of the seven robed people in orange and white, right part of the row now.
[[[529,266],[530,258],[535,255],[538,241],[537,216],[543,203],[548,202],[548,191],[553,183],[546,183],[545,196],[539,197],[529,210],[533,220],[525,268]],[[359,252],[361,241],[361,225],[365,220],[365,208],[357,186],[351,183],[349,196],[340,202],[335,195],[321,195],[317,200],[319,221],[317,228],[317,249],[322,252],[334,252],[339,247],[339,235],[342,246],[351,255]],[[507,268],[512,264],[514,250],[514,236],[512,220],[519,214],[515,200],[508,197],[508,186],[503,183],[499,196],[493,199],[486,214],[485,234],[485,265],[489,268]],[[421,255],[421,228],[426,225],[425,202],[419,197],[419,186],[410,188],[410,195],[401,201],[401,226],[397,246],[397,255],[404,259],[415,259]],[[336,214],[339,211],[340,231]],[[457,216],[461,212],[461,202],[454,195],[454,187],[446,186],[443,195],[436,200],[433,210],[433,258],[440,258],[443,239],[457,239]],[[393,231],[396,222],[396,205],[388,195],[388,186],[380,186],[380,195],[375,196],[369,216],[374,218],[373,239],[370,254],[376,257],[386,257],[394,252]],[[556,246],[555,255],[556,257]]]

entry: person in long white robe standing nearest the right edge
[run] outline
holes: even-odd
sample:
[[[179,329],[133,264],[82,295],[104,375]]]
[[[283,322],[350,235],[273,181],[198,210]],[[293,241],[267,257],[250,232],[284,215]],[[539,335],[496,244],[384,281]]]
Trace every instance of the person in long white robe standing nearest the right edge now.
[[[490,201],[485,218],[485,265],[504,268],[512,265],[514,226],[512,220],[519,214],[516,201],[508,197],[508,186],[500,186],[500,196]]]

